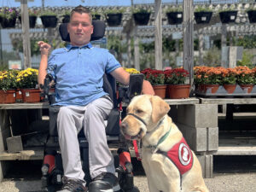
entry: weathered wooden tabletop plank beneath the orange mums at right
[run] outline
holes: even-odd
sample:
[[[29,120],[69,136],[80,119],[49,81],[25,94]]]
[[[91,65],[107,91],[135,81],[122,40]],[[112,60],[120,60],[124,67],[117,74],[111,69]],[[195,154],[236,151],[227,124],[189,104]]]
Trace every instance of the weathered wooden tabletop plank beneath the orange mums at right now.
[[[256,98],[199,98],[202,104],[256,104]]]

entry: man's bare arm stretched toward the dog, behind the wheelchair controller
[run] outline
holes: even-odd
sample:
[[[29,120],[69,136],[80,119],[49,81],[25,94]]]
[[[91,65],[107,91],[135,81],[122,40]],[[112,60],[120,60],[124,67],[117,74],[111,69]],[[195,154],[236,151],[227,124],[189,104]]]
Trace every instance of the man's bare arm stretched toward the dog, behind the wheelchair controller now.
[[[127,73],[123,67],[113,70],[111,75],[121,84],[128,85],[130,82],[130,73]],[[153,87],[147,80],[143,80],[143,94],[154,96]]]

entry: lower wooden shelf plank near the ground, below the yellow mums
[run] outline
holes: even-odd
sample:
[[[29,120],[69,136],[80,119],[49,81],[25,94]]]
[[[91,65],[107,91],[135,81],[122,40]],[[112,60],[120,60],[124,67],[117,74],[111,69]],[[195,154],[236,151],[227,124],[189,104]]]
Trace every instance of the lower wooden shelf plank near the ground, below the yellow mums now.
[[[23,150],[20,153],[9,154],[3,152],[0,154],[0,160],[43,160],[44,150]]]

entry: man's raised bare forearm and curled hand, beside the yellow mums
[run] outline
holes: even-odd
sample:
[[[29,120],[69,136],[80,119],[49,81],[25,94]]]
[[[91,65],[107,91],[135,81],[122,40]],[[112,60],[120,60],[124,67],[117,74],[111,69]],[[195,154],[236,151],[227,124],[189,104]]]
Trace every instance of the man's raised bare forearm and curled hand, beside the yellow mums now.
[[[38,84],[44,84],[44,79],[47,74],[47,62],[49,49],[51,48],[49,44],[44,43],[44,41],[39,41],[38,46],[41,51],[41,61],[38,70]]]

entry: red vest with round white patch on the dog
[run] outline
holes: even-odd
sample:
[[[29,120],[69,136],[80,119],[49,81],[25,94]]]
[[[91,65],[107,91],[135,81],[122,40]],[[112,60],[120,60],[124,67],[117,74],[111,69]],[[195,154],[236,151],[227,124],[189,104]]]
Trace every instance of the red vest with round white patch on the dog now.
[[[172,160],[181,175],[188,172],[193,166],[193,154],[184,137],[168,152],[158,151],[158,153],[165,154],[170,160]]]

